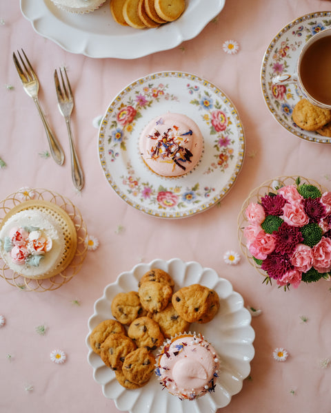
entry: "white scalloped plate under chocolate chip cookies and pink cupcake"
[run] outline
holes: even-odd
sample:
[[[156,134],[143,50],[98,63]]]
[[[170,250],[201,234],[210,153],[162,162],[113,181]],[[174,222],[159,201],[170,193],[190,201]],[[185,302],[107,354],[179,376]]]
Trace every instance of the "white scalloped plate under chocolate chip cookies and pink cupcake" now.
[[[192,324],[191,331],[201,334],[216,348],[221,359],[221,372],[214,393],[208,393],[195,401],[180,401],[165,390],[156,376],[137,390],[126,390],[115,379],[114,372],[107,368],[90,347],[90,332],[112,313],[110,304],[117,293],[138,289],[139,279],[151,268],[161,268],[174,279],[174,290],[190,284],[203,284],[217,291],[221,306],[212,321],[207,324]],[[106,286],[103,297],[94,304],[94,314],[88,321],[86,337],[88,362],[93,368],[93,377],[101,384],[103,394],[113,399],[116,407],[130,413],[214,413],[219,407],[230,403],[231,397],[241,391],[243,379],[250,373],[250,361],[254,357],[254,330],[251,316],[243,306],[243,297],[234,292],[228,280],[220,278],[212,268],[203,268],[197,262],[154,260],[138,264],[132,271],[121,273],[117,281]]]

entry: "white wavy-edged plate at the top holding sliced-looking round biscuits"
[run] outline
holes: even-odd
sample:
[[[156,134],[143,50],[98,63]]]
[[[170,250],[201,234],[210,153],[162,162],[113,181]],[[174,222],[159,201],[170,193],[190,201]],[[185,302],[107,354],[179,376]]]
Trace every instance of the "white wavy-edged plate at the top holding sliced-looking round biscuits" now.
[[[185,12],[177,21],[148,30],[116,23],[109,0],[86,14],[65,12],[50,0],[21,0],[21,12],[37,33],[68,52],[95,58],[137,59],[193,39],[224,5],[225,0],[208,0],[208,7],[205,0],[187,0]]]

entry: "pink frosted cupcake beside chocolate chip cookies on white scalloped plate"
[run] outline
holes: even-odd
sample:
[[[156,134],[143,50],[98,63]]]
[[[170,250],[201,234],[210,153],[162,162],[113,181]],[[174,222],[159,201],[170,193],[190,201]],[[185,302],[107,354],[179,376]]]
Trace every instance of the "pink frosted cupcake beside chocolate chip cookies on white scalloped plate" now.
[[[194,400],[214,392],[219,357],[202,335],[184,333],[163,346],[157,356],[155,373],[170,394],[181,400]]]

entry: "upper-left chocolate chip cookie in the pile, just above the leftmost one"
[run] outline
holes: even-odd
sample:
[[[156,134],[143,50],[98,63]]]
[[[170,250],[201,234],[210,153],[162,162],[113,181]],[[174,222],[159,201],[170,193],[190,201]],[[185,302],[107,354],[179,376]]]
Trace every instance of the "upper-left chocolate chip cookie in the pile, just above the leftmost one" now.
[[[137,317],[146,315],[137,291],[115,295],[111,304],[112,315],[121,323],[129,325]]]

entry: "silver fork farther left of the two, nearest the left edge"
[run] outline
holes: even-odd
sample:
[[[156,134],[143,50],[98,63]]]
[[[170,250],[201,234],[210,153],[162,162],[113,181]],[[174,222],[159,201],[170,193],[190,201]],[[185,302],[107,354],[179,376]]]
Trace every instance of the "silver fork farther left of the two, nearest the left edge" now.
[[[12,59],[14,59],[17,72],[19,73],[19,77],[21,78],[21,82],[23,83],[23,89],[34,100],[34,103],[37,106],[39,115],[41,117],[41,120],[43,121],[43,126],[45,127],[45,130],[46,130],[46,136],[48,138],[48,143],[50,145],[50,153],[52,154],[54,161],[57,162],[57,164],[62,165],[64,161],[63,149],[61,148],[61,145],[59,144],[59,141],[57,140],[56,136],[53,134],[52,130],[50,129],[50,125],[48,125],[48,121],[45,115],[43,114],[43,109],[41,109],[41,106],[39,104],[39,100],[38,100],[39,81],[37,78],[37,74],[35,74],[34,70],[32,69],[30,61],[26,57],[26,54],[24,53],[23,49],[22,49],[22,53],[23,53],[24,59],[22,58],[19,51],[17,51],[19,59],[17,59],[17,56],[15,53],[12,54]]]

